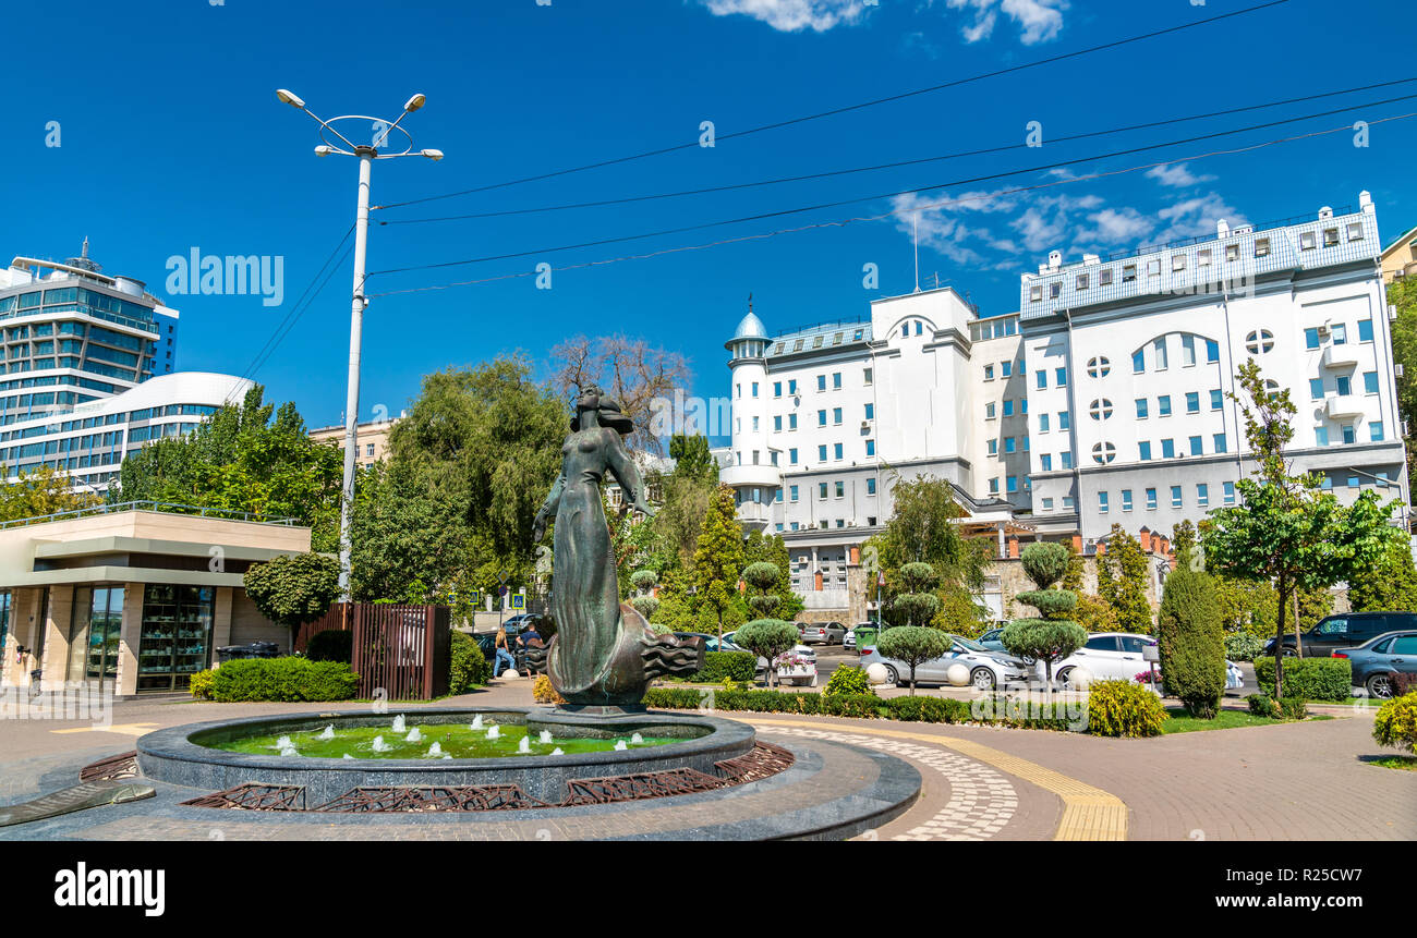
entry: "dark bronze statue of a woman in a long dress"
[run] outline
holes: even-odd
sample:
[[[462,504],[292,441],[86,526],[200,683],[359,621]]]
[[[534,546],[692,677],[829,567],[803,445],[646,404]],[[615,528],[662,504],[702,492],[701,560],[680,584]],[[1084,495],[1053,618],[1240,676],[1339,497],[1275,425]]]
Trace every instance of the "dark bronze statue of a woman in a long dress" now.
[[[551,618],[555,636],[547,650],[551,686],[570,704],[623,708],[639,704],[650,677],[696,670],[703,648],[656,636],[633,606],[619,601],[609,527],[601,507],[606,472],[625,504],[653,517],[645,480],[621,436],[633,429],[601,388],[581,391],[571,435],[561,446],[561,475],[537,512],[531,537],[540,541],[555,519]]]

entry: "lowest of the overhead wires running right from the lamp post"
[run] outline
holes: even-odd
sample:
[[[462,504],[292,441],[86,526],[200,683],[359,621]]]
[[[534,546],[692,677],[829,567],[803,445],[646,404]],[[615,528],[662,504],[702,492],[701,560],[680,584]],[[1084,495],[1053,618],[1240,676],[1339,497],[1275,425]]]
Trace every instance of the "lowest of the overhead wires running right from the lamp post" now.
[[[1367,125],[1369,126],[1377,126],[1377,125],[1382,125],[1382,123],[1390,123],[1393,120],[1410,120],[1411,118],[1417,118],[1417,112],[1393,115],[1393,116],[1389,116],[1389,118],[1377,118],[1374,120],[1369,120]],[[618,258],[604,258],[604,259],[599,259],[599,261],[582,261],[580,264],[567,264],[567,265],[551,268],[551,269],[555,271],[555,272],[574,271],[574,269],[584,269],[584,268],[591,268],[591,266],[604,266],[604,265],[608,265],[608,264],[619,264],[619,262],[623,262],[623,261],[643,261],[643,259],[649,259],[649,258],[663,256],[666,254],[682,254],[682,252],[686,252],[686,251],[706,251],[706,249],[710,249],[710,248],[717,248],[717,247],[723,247],[723,245],[728,245],[728,244],[740,244],[740,242],[744,242],[744,241],[762,241],[762,239],[772,238],[772,237],[777,237],[777,235],[796,234],[796,232],[801,232],[801,231],[812,231],[812,230],[816,230],[816,228],[842,228],[842,227],[846,227],[849,224],[854,224],[854,222],[860,222],[860,221],[881,221],[884,218],[891,218],[894,215],[900,215],[900,214],[904,214],[904,213],[928,211],[931,208],[944,208],[944,207],[948,207],[948,205],[959,205],[959,204],[975,203],[975,201],[990,201],[990,200],[995,200],[995,198],[1003,198],[1003,197],[1016,196],[1016,194],[1020,194],[1020,193],[1036,191],[1036,190],[1040,190],[1040,188],[1051,188],[1051,187],[1056,187],[1056,186],[1067,186],[1067,184],[1071,184],[1071,183],[1083,183],[1083,181],[1097,180],[1097,179],[1105,179],[1105,177],[1111,177],[1111,176],[1125,176],[1128,173],[1139,173],[1139,171],[1144,171],[1144,170],[1155,169],[1158,166],[1168,166],[1168,164],[1175,163],[1175,162],[1193,163],[1193,162],[1210,159],[1210,157],[1214,157],[1214,156],[1233,156],[1236,153],[1250,153],[1250,152],[1254,152],[1254,150],[1263,150],[1265,147],[1280,146],[1280,145],[1284,145],[1284,143],[1294,143],[1294,142],[1298,142],[1298,140],[1308,140],[1308,139],[1314,139],[1314,137],[1328,136],[1328,135],[1332,135],[1332,133],[1350,133],[1350,132],[1352,132],[1352,128],[1345,125],[1345,126],[1339,126],[1339,128],[1329,128],[1328,130],[1312,130],[1309,133],[1301,133],[1301,135],[1295,135],[1295,136],[1291,136],[1291,137],[1280,137],[1277,140],[1265,140],[1265,142],[1261,142],[1261,143],[1251,143],[1251,145],[1246,145],[1246,146],[1233,147],[1233,149],[1229,149],[1229,150],[1212,150],[1209,153],[1195,153],[1195,154],[1190,154],[1190,156],[1180,157],[1179,160],[1176,160],[1176,159],[1158,160],[1158,162],[1153,162],[1153,163],[1142,163],[1139,166],[1129,166],[1127,169],[1119,169],[1119,170],[1105,170],[1105,171],[1091,173],[1091,174],[1087,174],[1087,176],[1070,176],[1067,179],[1057,179],[1057,180],[1051,180],[1051,181],[1047,181],[1047,183],[1036,183],[1033,186],[1020,186],[1020,187],[1012,188],[1012,190],[1000,190],[1000,191],[996,191],[996,193],[981,193],[981,194],[965,196],[965,197],[954,198],[954,200],[942,200],[942,201],[937,201],[937,203],[925,203],[925,204],[911,205],[910,208],[893,208],[891,211],[880,213],[880,214],[876,214],[876,215],[857,215],[854,218],[837,218],[837,220],[833,220],[833,221],[818,221],[818,222],[811,222],[811,224],[805,224],[805,225],[798,225],[795,228],[779,228],[777,231],[761,231],[761,232],[754,232],[754,234],[737,235],[737,237],[733,237],[733,238],[721,238],[718,241],[710,241],[710,242],[706,242],[706,244],[693,244],[693,245],[679,245],[679,247],[673,247],[673,248],[660,248],[657,251],[648,251],[645,254],[623,255],[623,256],[618,256]],[[378,293],[370,293],[370,299],[378,298],[378,296],[397,296],[397,295],[402,295],[402,293],[424,293],[424,292],[429,292],[429,290],[446,290],[446,289],[453,289],[453,288],[459,288],[459,286],[476,286],[476,285],[482,285],[482,283],[493,283],[493,282],[497,282],[497,281],[510,281],[510,279],[519,279],[519,278],[527,278],[527,276],[537,276],[540,273],[541,273],[541,271],[517,271],[517,272],[513,272],[513,273],[500,273],[500,275],[496,275],[496,276],[480,278],[480,279],[476,279],[476,281],[459,281],[459,282],[455,282],[455,283],[436,283],[436,285],[428,285],[428,286],[411,286],[411,288],[398,289],[398,290],[383,290],[383,292],[378,292]]]

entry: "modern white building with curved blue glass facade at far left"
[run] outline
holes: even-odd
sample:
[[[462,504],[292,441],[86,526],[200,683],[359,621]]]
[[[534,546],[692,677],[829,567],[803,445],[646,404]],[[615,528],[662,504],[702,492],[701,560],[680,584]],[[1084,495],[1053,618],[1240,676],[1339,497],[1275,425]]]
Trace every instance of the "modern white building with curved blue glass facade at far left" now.
[[[0,271],[0,482],[41,465],[102,490],[123,456],[193,429],[251,381],[176,371],[177,310],[88,256]]]

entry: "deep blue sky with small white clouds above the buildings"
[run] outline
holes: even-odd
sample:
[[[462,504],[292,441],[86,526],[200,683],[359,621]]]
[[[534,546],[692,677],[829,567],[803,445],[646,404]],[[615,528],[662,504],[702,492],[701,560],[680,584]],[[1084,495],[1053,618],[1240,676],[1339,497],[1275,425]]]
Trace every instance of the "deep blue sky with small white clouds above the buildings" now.
[[[0,174],[9,255],[65,258],[86,235],[111,273],[164,292],[167,259],[193,248],[283,258],[281,306],[256,296],[170,296],[181,310],[179,367],[241,374],[290,312],[353,221],[356,162],[316,159],[317,128],[276,102],[290,88],[322,116],[408,119],[439,163],[374,166],[388,204],[489,186],[720,136],[1254,6],[1261,0],[476,0],[473,3],[268,3],[167,0],[23,4],[7,11],[0,60],[7,99]],[[1077,142],[1076,133],[1169,120],[1417,77],[1383,23],[1406,4],[1289,0],[1214,26],[989,78],[779,130],[374,213],[376,221],[517,211],[840,170],[1012,146],[1030,122],[1043,146],[913,167],[628,205],[371,230],[370,269],[486,255],[529,256],[387,273],[370,292],[496,278],[629,254],[700,245],[809,222],[903,214],[845,227],[683,251],[478,286],[376,296],[364,322],[361,418],[391,412],[428,371],[524,350],[543,361],[575,333],[625,333],[679,350],[691,392],[723,394],[723,341],[754,295],[771,330],[867,312],[914,283],[911,215],[921,211],[921,269],[968,290],[983,315],[1017,307],[1017,275],[1049,249],[1122,251],[1203,234],[1224,217],[1265,221],[1356,204],[1367,188],[1386,238],[1417,224],[1404,187],[1417,119],[1372,126],[1369,146],[1332,133],[1246,154],[1182,157],[1417,111],[1362,108],[1134,156],[1073,174],[1173,160],[1165,169],[1061,183],[1032,173],[941,183],[1417,95],[1396,85]],[[82,28],[75,24],[82,23]],[[24,38],[28,37],[28,38]],[[45,146],[58,122],[60,146]],[[354,130],[366,135],[360,123]],[[1061,183],[1029,193],[1000,190]],[[937,186],[625,244],[548,248]],[[6,258],[7,259],[7,258]],[[876,289],[863,266],[877,265]],[[255,373],[269,397],[295,400],[312,425],[341,419],[350,261]]]

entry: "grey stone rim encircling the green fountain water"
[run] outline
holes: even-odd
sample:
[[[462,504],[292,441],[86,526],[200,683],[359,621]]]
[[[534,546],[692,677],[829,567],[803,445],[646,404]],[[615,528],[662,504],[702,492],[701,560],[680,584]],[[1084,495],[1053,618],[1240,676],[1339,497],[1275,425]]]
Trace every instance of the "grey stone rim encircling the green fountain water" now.
[[[639,728],[645,724],[649,725],[696,725],[707,727],[708,733],[693,740],[683,740],[680,742],[669,742],[665,745],[656,745],[642,750],[626,750],[626,751],[608,751],[608,752],[572,752],[558,757],[547,755],[514,755],[503,758],[485,758],[485,759],[366,759],[366,758],[322,758],[322,757],[285,757],[285,755],[255,755],[249,752],[232,752],[228,750],[217,750],[211,747],[201,745],[200,742],[193,742],[191,737],[200,733],[218,728],[232,728],[232,727],[258,727],[262,724],[289,724],[289,723],[319,723],[319,721],[340,721],[349,718],[387,718],[393,721],[395,707],[390,707],[388,714],[368,714],[361,711],[354,713],[330,713],[330,711],[313,711],[313,713],[290,713],[290,714],[265,714],[259,717],[241,717],[237,720],[210,720],[205,723],[188,723],[177,727],[167,727],[164,730],[154,730],[137,740],[137,759],[139,767],[143,767],[145,758],[149,764],[153,759],[160,759],[164,762],[198,762],[207,765],[222,765],[228,768],[248,768],[248,769],[264,769],[264,771],[281,771],[281,769],[295,769],[295,771],[324,771],[324,772],[425,772],[429,775],[446,774],[458,769],[469,768],[485,768],[485,769],[530,769],[530,768],[597,768],[604,767],[606,769],[622,769],[626,762],[643,761],[646,754],[653,754],[650,761],[663,762],[666,759],[677,758],[691,758],[711,755],[713,758],[731,758],[747,750],[752,748],[754,740],[757,737],[752,727],[737,723],[733,720],[726,720],[723,717],[711,717],[701,713],[683,713],[683,711],[663,711],[663,710],[646,710],[643,713],[625,714],[616,717],[585,717],[581,714],[563,714],[554,707],[412,707],[401,711],[408,725],[412,727],[417,723],[417,717],[421,716],[455,716],[468,714],[469,717],[476,714],[516,714],[526,717],[527,720],[534,720],[537,723],[564,723],[567,725],[585,727],[585,725],[604,725],[606,728],[626,727],[626,734]],[[412,717],[412,718],[411,718]],[[564,718],[563,718],[564,717]],[[261,735],[259,733],[252,733],[252,735]],[[555,761],[551,762],[550,759]]]

